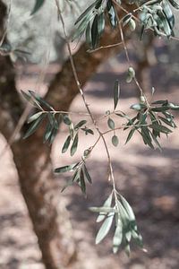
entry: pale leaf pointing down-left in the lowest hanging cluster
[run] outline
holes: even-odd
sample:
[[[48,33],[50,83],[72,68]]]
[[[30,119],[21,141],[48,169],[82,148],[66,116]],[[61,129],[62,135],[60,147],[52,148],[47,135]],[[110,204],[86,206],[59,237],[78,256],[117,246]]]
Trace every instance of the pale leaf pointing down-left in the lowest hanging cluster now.
[[[108,213],[106,220],[101,225],[98,230],[98,234],[96,237],[96,244],[100,243],[107,236],[108,231],[111,228],[115,213]]]

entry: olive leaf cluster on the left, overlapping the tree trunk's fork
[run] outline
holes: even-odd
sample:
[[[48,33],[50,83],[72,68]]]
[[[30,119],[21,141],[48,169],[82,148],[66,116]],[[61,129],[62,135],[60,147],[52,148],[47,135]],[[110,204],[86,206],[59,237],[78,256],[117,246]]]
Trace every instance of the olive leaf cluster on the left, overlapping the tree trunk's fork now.
[[[38,109],[38,112],[31,115],[28,118],[28,124],[30,124],[29,129],[23,138],[29,137],[31,134],[34,134],[42,122],[46,119],[46,129],[44,132],[44,143],[53,143],[55,136],[58,133],[59,126],[64,123],[68,127],[69,135],[67,136],[62,152],[66,152],[72,143],[71,146],[71,156],[77,151],[79,143],[79,131],[81,130],[85,134],[94,134],[93,131],[85,126],[87,121],[82,119],[79,123],[74,125],[68,113],[58,112],[50,106],[46,100],[38,96],[34,91],[21,91],[23,97],[28,100],[35,108]]]

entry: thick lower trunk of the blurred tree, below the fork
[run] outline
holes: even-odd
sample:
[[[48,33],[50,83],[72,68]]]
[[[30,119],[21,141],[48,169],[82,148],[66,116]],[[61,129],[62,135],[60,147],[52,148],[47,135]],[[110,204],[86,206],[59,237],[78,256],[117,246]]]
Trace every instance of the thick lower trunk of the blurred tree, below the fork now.
[[[43,144],[40,131],[27,140],[13,143],[13,159],[43,262],[48,269],[66,268],[76,254],[72,227],[64,197],[58,189],[55,191],[50,148]]]

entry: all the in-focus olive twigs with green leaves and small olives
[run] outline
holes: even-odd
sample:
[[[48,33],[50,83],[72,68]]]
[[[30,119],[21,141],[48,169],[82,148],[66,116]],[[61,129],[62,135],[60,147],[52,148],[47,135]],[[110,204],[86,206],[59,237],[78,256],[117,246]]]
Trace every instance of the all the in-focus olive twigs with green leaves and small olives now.
[[[45,1],[36,1],[32,14],[36,13],[44,2]],[[139,82],[137,82],[135,70],[130,63],[123,33],[125,28],[135,30],[136,26],[140,24],[141,38],[147,30],[152,30],[158,37],[174,37],[175,16],[171,5],[175,9],[179,9],[179,4],[175,0],[135,0],[129,2],[131,4],[136,4],[136,9],[133,10],[132,13],[125,11],[123,1],[96,0],[90,4],[83,13],[81,13],[80,17],[75,22],[77,29],[74,32],[72,40],[79,40],[82,35],[85,34],[86,42],[91,50],[99,47],[100,39],[105,31],[107,22],[111,25],[111,30],[119,30],[129,64],[126,70],[126,82],[136,83],[139,91],[141,92],[141,100],[136,104],[132,104],[130,107],[133,111],[132,117],[128,116],[122,110],[117,110],[117,107],[119,107],[121,87],[119,81],[116,80],[113,90],[113,110],[107,110],[103,115],[103,118],[105,117],[107,120],[108,129],[106,132],[101,132],[97,124],[100,118],[96,120],[93,117],[90,112],[89,105],[86,103],[85,98],[82,95],[90,120],[92,120],[94,130],[99,136],[96,143],[83,152],[81,161],[55,169],[55,173],[57,174],[64,172],[72,173],[72,177],[67,180],[62,191],[64,191],[66,187],[76,184],[81,188],[82,194],[86,195],[87,183],[92,184],[86,162],[90,158],[90,152],[93,151],[101,138],[107,150],[107,142],[105,140],[106,134],[112,133],[111,143],[115,147],[119,144],[119,138],[116,131],[127,130],[128,134],[126,135],[125,143],[128,143],[132,139],[133,134],[137,133],[141,135],[141,139],[145,145],[152,149],[158,148],[161,150],[159,140],[162,134],[168,136],[176,127],[174,120],[175,117],[172,112],[179,110],[179,106],[169,102],[168,100],[156,100],[152,102],[147,100]],[[124,13],[121,17],[118,17],[118,10],[120,8],[124,10]],[[77,86],[79,86],[79,84],[80,82],[77,82]],[[81,118],[78,123],[74,124],[70,117],[70,113],[55,111],[55,109],[52,108],[46,100],[39,97],[34,91],[29,91],[28,93],[21,91],[21,93],[23,97],[28,100],[34,108],[36,108],[36,112],[28,119],[30,127],[24,135],[24,138],[27,138],[36,132],[38,127],[46,120],[47,126],[44,133],[44,143],[47,142],[51,144],[58,133],[59,126],[64,124],[64,126],[68,129],[68,135],[62,145],[62,153],[69,151],[71,156],[73,156],[78,150],[79,141],[81,139],[80,133],[83,132],[86,135],[94,134],[94,131],[86,126],[89,123],[88,120]],[[153,89],[151,95],[153,98]],[[121,119],[124,120],[123,124],[121,124]],[[97,233],[96,244],[105,239],[110,230],[113,230],[114,253],[118,251],[119,247],[122,247],[129,256],[132,242],[137,246],[142,247],[142,238],[138,231],[135,215],[132,211],[131,205],[115,188],[115,178],[109,155],[110,154],[107,150],[108,166],[110,170],[109,176],[112,178],[113,191],[107,197],[107,200],[102,206],[90,207],[92,212],[98,213],[97,222],[102,222]]]

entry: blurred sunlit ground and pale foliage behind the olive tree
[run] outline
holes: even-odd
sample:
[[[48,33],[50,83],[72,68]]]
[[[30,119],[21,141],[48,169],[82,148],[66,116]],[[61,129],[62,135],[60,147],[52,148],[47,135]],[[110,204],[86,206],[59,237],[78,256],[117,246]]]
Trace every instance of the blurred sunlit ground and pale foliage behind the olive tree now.
[[[62,32],[58,30],[59,22],[56,21],[56,16],[49,13],[49,8],[55,10],[53,4],[45,4],[34,19],[30,20],[30,6],[33,6],[34,1],[29,1],[27,5],[23,2],[20,0],[12,2],[12,15],[7,35],[14,48],[30,52],[26,60],[18,55],[14,63],[16,87],[18,90],[27,91],[38,85],[39,91],[44,94],[64,62],[66,55],[64,38]],[[78,14],[77,12],[77,16]],[[20,20],[17,20],[17,16]],[[74,21],[70,19],[69,21],[70,36]],[[179,103],[178,41],[144,37],[144,41],[141,42],[136,34],[133,35],[128,48],[132,64],[138,71],[139,79],[148,97],[151,95],[153,86],[156,89],[154,99],[168,99]],[[43,70],[45,56],[47,56],[47,61],[50,61],[50,65],[47,66],[44,81],[39,85],[38,75]],[[121,82],[119,108],[126,113],[132,113],[129,107],[138,102],[138,92],[134,83],[125,83],[127,66],[124,52],[122,52],[110,57],[107,62],[98,67],[97,74],[91,76],[85,86],[85,93],[95,117],[100,117],[107,109],[112,108],[115,79]],[[85,111],[80,96],[72,101],[70,109]],[[175,113],[175,117],[178,124],[179,115]],[[74,116],[73,120],[78,121],[78,117]],[[102,129],[107,128],[107,122],[102,121],[101,126]],[[68,164],[69,161],[78,161],[83,150],[95,141],[95,137],[90,135],[88,139],[85,137],[81,139],[80,149],[71,160],[68,153],[63,156],[61,154],[66,136],[67,130],[63,127],[52,147],[51,158],[54,168]],[[179,266],[178,130],[176,128],[168,138],[162,137],[162,152],[150,150],[144,146],[141,137],[137,134],[133,135],[132,141],[127,145],[124,145],[127,133],[122,131],[118,133],[118,136],[120,143],[117,148],[112,145],[110,135],[107,137],[115,180],[121,194],[132,205],[143,236],[144,247],[148,252],[143,253],[134,247],[130,258],[123,251],[113,255],[112,234],[110,233],[102,244],[95,246],[98,223],[95,222],[95,214],[90,213],[88,208],[101,205],[111,191],[111,184],[107,181],[107,156],[103,144],[99,143],[88,161],[93,185],[87,189],[87,198],[82,196],[79,188],[75,186],[69,187],[62,194],[60,187],[69,177],[68,175],[64,178],[55,177],[59,199],[65,196],[67,201],[73,236],[79,254],[77,263],[69,268],[177,269]],[[1,135],[0,149],[3,149],[4,145],[5,139]],[[6,150],[1,158],[0,170],[0,268],[42,269],[44,265],[40,262],[38,240],[32,230],[30,217],[21,196],[18,175],[10,150]]]

